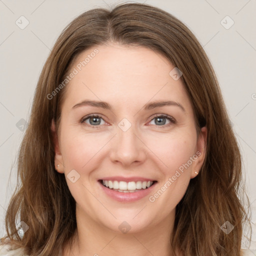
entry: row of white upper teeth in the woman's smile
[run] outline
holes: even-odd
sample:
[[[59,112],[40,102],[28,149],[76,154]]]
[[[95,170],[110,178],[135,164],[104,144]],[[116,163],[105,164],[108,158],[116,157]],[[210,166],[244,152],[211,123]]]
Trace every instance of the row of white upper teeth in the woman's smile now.
[[[102,180],[102,184],[119,192],[135,192],[145,189],[153,184],[153,181],[117,181],[117,180]]]

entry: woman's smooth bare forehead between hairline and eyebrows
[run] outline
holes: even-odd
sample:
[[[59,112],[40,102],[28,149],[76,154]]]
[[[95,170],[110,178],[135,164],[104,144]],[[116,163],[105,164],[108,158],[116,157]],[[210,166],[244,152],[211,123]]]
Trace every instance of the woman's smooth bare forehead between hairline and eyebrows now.
[[[169,74],[174,66],[161,54],[143,47],[120,44],[97,45],[81,52],[68,73],[65,100],[109,101],[111,104],[145,104],[150,99],[182,101],[189,99],[181,79]]]

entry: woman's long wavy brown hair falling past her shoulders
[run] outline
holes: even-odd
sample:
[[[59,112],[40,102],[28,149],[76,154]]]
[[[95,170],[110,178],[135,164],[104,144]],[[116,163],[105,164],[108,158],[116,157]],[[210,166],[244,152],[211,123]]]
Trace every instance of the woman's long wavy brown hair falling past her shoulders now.
[[[241,255],[242,224],[248,220],[239,198],[243,192],[241,155],[210,61],[181,21],[140,3],[120,4],[111,11],[86,11],[62,31],[54,44],[36,86],[19,150],[20,184],[7,208],[5,240],[11,239],[29,255],[57,255],[61,245],[75,234],[75,201],[64,175],[54,168],[50,129],[52,119],[58,127],[65,87],[51,98],[47,95],[65,79],[80,52],[108,41],[148,47],[178,67],[197,128],[207,127],[203,166],[176,206],[170,237],[173,251],[179,248],[186,256]],[[29,226],[22,239],[15,225],[18,217]],[[225,221],[234,226],[229,234],[220,228]]]

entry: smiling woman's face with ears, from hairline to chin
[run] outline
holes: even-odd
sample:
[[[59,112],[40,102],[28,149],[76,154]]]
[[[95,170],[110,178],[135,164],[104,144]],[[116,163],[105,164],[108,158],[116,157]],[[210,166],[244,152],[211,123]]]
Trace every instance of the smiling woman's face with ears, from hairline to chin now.
[[[79,221],[118,232],[170,228],[202,165],[206,136],[205,128],[196,135],[192,105],[173,68],[148,48],[113,43],[75,59],[55,166],[65,174]]]

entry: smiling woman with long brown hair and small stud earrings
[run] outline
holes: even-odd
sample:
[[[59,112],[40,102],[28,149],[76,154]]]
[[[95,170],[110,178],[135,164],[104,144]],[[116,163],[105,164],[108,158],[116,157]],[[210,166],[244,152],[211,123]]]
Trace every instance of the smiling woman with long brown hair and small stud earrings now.
[[[156,7],[96,8],[64,29],[18,174],[2,254],[243,255],[241,156],[214,71]]]

